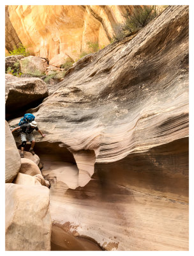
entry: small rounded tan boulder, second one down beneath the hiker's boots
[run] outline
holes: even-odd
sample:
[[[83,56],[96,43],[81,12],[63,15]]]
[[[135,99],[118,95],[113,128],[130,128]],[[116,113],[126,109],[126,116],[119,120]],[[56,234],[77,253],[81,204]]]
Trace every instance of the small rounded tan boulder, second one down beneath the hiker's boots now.
[[[38,165],[35,164],[31,159],[27,158],[21,158],[20,173],[25,173],[31,176],[34,176],[36,174],[41,175]]]

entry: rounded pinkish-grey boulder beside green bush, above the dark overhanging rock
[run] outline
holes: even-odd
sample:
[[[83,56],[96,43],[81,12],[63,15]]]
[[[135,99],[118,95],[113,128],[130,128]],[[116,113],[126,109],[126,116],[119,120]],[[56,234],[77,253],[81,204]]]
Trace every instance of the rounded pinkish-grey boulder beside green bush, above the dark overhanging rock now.
[[[36,56],[28,56],[20,60],[22,74],[29,77],[44,76],[47,70],[47,61]]]

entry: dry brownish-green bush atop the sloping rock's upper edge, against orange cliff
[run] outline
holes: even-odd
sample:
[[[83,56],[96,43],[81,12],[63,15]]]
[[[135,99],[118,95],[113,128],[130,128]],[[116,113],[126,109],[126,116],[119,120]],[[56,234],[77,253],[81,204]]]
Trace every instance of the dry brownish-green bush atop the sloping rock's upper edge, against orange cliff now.
[[[156,5],[134,6],[134,10],[125,13],[123,24],[114,27],[113,41],[121,41],[135,31],[144,28],[151,20],[162,12],[162,8]]]

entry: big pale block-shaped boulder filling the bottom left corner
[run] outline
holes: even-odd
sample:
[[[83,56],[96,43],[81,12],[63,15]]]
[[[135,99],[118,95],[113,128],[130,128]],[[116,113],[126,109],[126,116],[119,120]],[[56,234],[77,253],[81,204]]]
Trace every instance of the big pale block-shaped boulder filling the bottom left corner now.
[[[6,184],[6,251],[49,251],[49,189]]]

